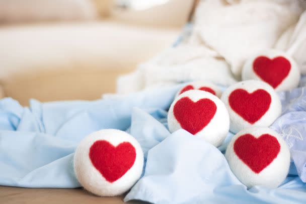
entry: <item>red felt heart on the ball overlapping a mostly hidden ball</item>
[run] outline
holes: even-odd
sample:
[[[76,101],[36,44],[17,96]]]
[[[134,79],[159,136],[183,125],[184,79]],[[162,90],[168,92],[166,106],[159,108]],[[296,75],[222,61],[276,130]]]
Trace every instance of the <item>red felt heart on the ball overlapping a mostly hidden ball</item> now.
[[[217,111],[216,104],[207,98],[193,102],[183,97],[176,102],[173,113],[181,127],[192,134],[201,131]]]

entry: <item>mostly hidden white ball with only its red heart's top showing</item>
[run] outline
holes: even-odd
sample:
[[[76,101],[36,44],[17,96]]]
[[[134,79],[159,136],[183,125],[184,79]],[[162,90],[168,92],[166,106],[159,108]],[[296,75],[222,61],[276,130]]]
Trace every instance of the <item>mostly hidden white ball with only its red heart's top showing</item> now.
[[[180,94],[189,91],[189,90],[201,90],[201,91],[207,91],[217,97],[221,97],[221,90],[214,85],[213,83],[210,82],[205,82],[205,81],[196,81],[196,82],[192,82],[189,84],[186,84],[183,88],[181,88],[178,93],[176,94],[176,97],[178,97]]]

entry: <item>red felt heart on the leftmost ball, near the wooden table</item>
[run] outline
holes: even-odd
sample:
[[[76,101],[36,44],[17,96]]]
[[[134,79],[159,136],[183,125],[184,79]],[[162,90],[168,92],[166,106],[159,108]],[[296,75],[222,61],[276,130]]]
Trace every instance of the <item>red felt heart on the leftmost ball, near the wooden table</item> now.
[[[91,146],[89,158],[103,177],[112,183],[133,166],[136,150],[129,142],[123,142],[114,147],[109,142],[100,140]]]

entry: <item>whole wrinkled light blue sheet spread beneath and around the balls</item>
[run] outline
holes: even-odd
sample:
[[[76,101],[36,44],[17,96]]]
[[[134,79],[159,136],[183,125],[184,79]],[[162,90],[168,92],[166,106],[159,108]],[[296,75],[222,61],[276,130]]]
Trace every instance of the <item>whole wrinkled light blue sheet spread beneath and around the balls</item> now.
[[[93,131],[117,128],[137,139],[146,161],[143,177],[125,200],[154,203],[306,200],[306,185],[301,181],[305,179],[306,164],[303,155],[306,88],[280,93],[283,114],[271,127],[286,140],[292,163],[287,179],[277,189],[261,186],[247,189],[235,177],[222,154],[232,133],[217,149],[185,130],[172,134],[168,131],[167,108],[179,88],[92,102],[32,100],[29,108],[10,98],[0,100],[0,185],[79,187],[72,166],[75,148]]]

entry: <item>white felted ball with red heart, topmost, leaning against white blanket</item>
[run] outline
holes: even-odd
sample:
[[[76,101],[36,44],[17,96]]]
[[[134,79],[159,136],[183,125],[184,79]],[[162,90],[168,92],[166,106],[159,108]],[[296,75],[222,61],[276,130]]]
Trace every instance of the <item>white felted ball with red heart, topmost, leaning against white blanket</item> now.
[[[298,86],[300,72],[292,57],[278,50],[267,50],[248,59],[243,67],[242,80],[261,80],[276,91]]]

